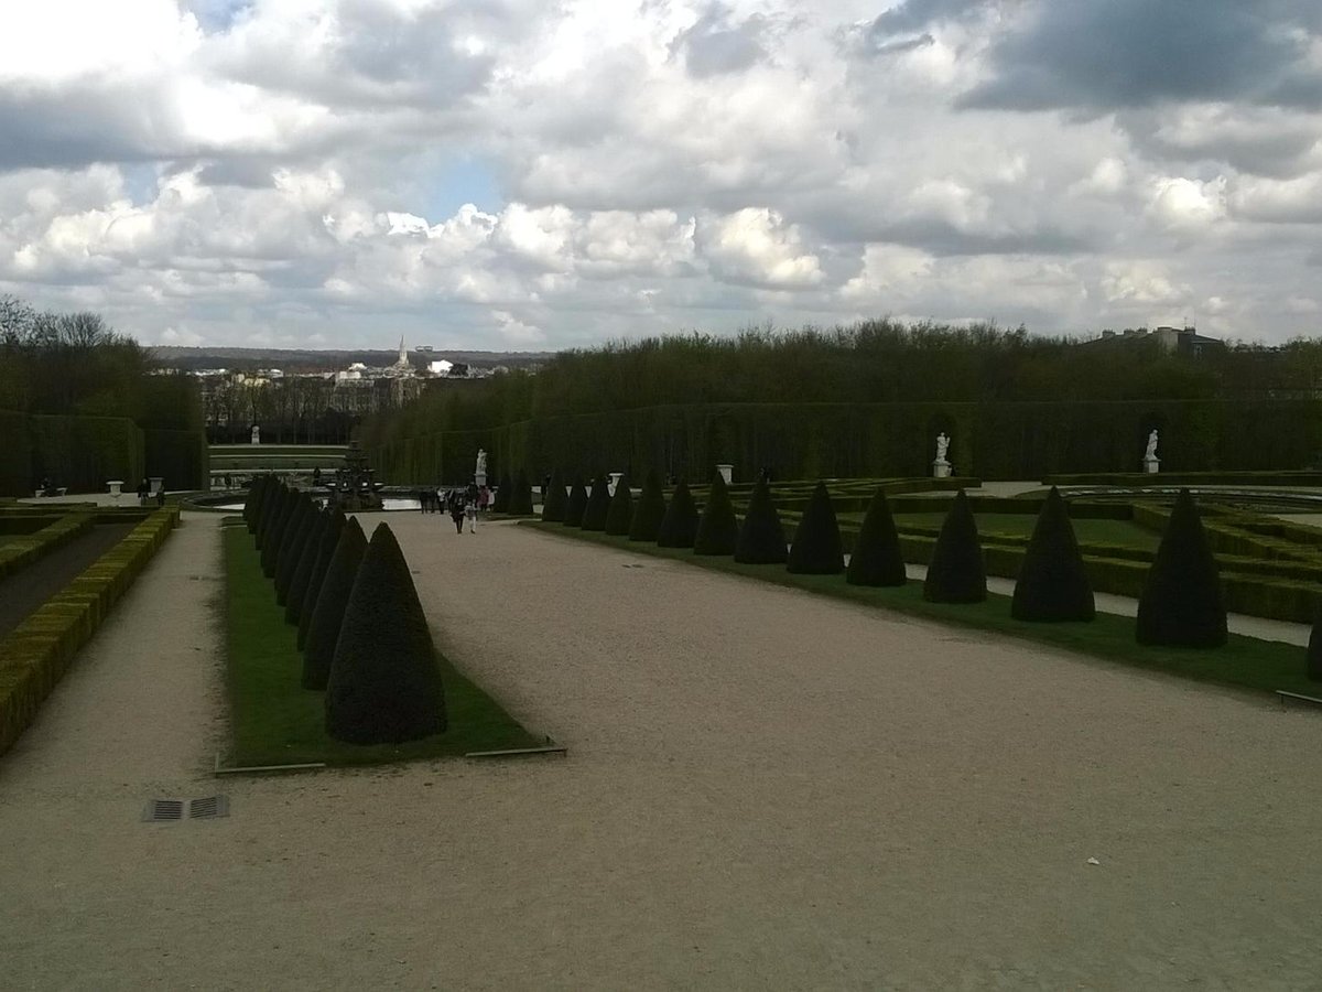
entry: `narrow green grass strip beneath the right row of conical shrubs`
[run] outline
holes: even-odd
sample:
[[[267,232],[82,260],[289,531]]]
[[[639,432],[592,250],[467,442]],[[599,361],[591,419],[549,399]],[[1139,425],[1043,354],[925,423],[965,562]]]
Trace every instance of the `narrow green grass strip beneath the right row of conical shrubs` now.
[[[608,537],[561,524],[524,521],[547,534],[605,545],[635,554],[670,558],[701,569],[773,582],[777,586],[846,599],[865,606],[894,610],[958,627],[993,631],[1079,655],[1120,661],[1136,668],[1166,672],[1185,679],[1229,685],[1240,689],[1274,692],[1286,689],[1305,696],[1322,694],[1322,686],[1305,675],[1303,648],[1274,640],[1259,640],[1232,634],[1223,648],[1147,647],[1134,640],[1134,619],[1097,614],[1091,623],[1025,623],[1010,616],[1010,597],[989,594],[986,602],[969,606],[929,603],[923,599],[923,583],[911,579],[898,589],[850,586],[843,575],[795,575],[783,565],[740,565],[734,558],[697,556],[691,550],[658,548],[645,541]]]

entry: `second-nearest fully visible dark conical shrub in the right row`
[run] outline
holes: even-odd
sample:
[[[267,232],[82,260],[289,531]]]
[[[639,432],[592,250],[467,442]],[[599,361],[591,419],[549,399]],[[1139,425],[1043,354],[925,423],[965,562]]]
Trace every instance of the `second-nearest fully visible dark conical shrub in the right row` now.
[[[1017,620],[1091,620],[1097,615],[1069,511],[1055,485],[1042,504],[1014,583]]]

